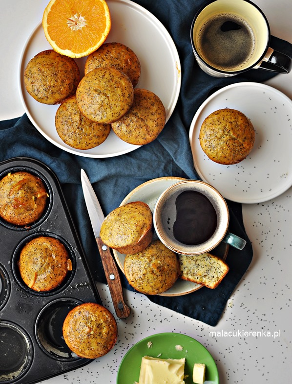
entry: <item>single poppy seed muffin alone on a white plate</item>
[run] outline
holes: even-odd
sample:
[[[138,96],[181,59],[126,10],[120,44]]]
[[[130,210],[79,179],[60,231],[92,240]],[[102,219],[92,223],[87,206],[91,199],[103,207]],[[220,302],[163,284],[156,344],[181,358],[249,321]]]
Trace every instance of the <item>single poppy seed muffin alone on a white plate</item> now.
[[[200,129],[200,145],[212,161],[231,165],[250,153],[255,139],[251,121],[235,109],[219,109],[211,113]]]

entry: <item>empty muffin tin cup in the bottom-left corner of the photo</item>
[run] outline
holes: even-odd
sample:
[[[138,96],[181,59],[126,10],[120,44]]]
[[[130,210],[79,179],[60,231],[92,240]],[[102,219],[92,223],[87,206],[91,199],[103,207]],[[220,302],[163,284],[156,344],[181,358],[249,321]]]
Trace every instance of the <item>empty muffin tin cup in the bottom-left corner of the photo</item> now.
[[[20,379],[32,361],[32,343],[16,324],[0,322],[0,383]]]

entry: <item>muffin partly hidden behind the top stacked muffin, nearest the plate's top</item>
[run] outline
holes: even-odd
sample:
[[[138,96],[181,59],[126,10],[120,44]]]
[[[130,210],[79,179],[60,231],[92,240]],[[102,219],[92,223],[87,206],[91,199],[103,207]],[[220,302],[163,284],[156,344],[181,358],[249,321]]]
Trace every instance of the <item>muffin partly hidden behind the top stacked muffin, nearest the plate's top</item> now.
[[[137,55],[132,49],[121,43],[104,43],[96,51],[88,55],[85,74],[100,67],[113,67],[124,72],[131,80],[133,87],[138,84],[141,65]]]

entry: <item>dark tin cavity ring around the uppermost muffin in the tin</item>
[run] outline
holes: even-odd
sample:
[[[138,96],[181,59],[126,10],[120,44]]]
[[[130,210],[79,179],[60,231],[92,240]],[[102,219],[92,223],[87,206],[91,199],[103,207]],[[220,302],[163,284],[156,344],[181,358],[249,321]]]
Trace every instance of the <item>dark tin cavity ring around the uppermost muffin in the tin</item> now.
[[[12,167],[9,169],[5,169],[5,171],[0,173],[0,180],[2,180],[9,173],[15,173],[15,172],[28,172],[34,176],[39,177],[42,180],[42,183],[43,183],[45,190],[48,194],[48,197],[46,199],[46,205],[45,205],[45,208],[42,212],[42,215],[36,221],[34,221],[32,223],[29,223],[27,225],[15,225],[15,224],[12,224],[12,223],[4,220],[3,217],[0,216],[0,223],[2,225],[5,225],[8,228],[14,229],[16,231],[21,231],[21,230],[25,231],[27,229],[33,229],[33,228],[38,227],[42,223],[42,221],[45,220],[46,217],[49,215],[50,209],[51,209],[52,204],[53,204],[53,193],[52,193],[52,189],[51,189],[51,186],[50,186],[48,180],[40,172],[38,172],[37,170],[30,168],[30,167],[23,167],[23,166],[19,167],[18,166],[18,167]]]

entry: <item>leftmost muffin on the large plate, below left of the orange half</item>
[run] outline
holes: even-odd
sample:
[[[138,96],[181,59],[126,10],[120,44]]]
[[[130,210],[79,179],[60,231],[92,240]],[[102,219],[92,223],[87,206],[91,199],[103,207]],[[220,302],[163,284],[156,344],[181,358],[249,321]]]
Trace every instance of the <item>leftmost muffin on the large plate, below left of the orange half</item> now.
[[[75,94],[79,81],[80,71],[74,59],[53,49],[38,53],[24,71],[27,92],[43,104],[60,104]]]

